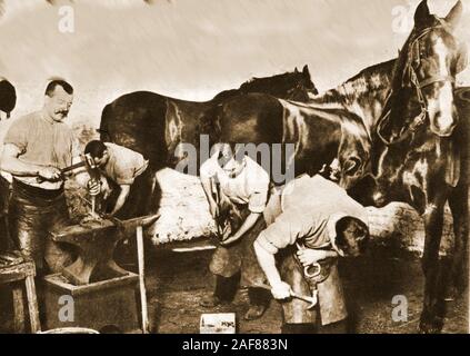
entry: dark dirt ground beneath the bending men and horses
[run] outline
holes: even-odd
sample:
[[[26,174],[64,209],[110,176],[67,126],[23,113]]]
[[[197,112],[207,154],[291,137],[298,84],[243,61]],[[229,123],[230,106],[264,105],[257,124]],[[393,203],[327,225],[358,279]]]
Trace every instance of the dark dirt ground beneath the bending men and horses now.
[[[154,333],[199,333],[202,313],[237,313],[238,330],[247,334],[280,333],[281,308],[272,300],[258,320],[246,322],[247,297],[239,290],[231,305],[206,309],[202,296],[212,291],[213,278],[208,270],[211,251],[152,253],[148,266],[148,298]],[[390,253],[383,248],[340,265],[350,314],[350,330],[359,334],[413,334],[418,330],[423,277],[419,259],[412,255]],[[408,299],[408,322],[392,320],[392,298]],[[468,290],[447,304],[443,333],[468,333]]]

